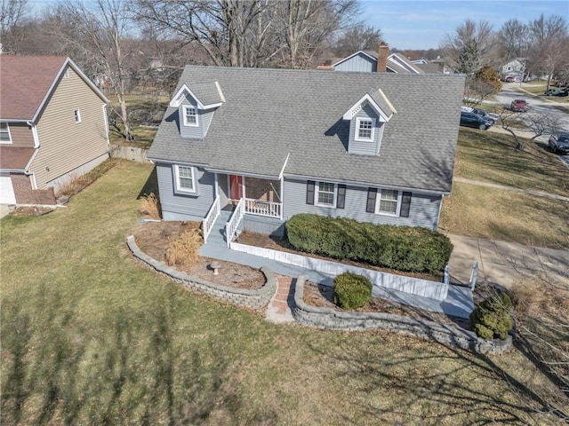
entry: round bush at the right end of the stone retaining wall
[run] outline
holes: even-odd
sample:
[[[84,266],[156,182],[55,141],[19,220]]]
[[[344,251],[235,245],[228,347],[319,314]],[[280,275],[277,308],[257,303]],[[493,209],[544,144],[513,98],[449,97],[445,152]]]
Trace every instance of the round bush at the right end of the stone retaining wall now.
[[[508,337],[514,326],[510,315],[512,301],[505,293],[487,298],[470,314],[470,325],[483,339],[501,339]]]

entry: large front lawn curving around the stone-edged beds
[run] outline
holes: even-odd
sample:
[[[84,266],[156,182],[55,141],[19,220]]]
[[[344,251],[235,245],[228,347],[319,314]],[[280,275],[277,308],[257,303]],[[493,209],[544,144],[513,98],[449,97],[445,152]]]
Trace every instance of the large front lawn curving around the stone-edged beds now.
[[[118,162],[68,209],[0,222],[2,424],[555,420],[519,351],[275,325],[145,269],[125,238],[151,172]]]

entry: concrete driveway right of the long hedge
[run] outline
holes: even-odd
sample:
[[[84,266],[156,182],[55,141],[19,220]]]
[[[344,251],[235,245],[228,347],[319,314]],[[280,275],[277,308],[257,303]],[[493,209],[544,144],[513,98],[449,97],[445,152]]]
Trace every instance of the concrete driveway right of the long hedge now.
[[[522,280],[540,277],[569,286],[569,251],[453,234],[448,237],[454,245],[449,262],[451,276],[462,283],[469,282],[472,265],[477,261],[478,282],[512,288]]]

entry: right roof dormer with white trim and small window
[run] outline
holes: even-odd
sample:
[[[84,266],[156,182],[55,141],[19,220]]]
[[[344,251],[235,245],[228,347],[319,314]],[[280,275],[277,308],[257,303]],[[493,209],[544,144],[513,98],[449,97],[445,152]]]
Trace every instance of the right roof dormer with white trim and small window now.
[[[349,120],[349,154],[379,155],[383,129],[397,111],[381,89],[369,91],[343,115]]]

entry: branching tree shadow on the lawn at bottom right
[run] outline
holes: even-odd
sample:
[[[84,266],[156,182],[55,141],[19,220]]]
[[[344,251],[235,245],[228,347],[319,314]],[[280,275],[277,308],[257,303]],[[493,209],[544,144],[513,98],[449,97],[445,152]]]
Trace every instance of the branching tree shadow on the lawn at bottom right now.
[[[378,338],[382,339],[381,335]],[[397,344],[405,345],[400,340]],[[348,341],[339,343],[333,351],[311,346],[323,362],[332,358],[331,364],[346,366],[343,371],[336,372],[337,375],[363,378],[358,382],[361,384],[356,391],[370,398],[363,399],[357,410],[377,416],[381,422],[431,424],[448,422],[453,418],[456,424],[529,424],[528,418],[531,419],[532,415],[548,413],[566,420],[566,414],[509,375],[493,359],[441,343],[431,344],[431,350],[421,351],[415,357],[402,357],[400,352],[392,358],[378,357],[373,350],[374,345],[366,346],[363,351],[354,351]],[[429,366],[433,364],[441,367],[432,370]],[[449,368],[445,368],[446,365]],[[477,387],[463,383],[463,376],[473,375],[473,367],[476,367],[477,377],[483,376],[488,383],[508,383],[519,400],[507,397],[498,388],[486,390],[480,387],[479,382]],[[445,369],[447,373],[440,373]],[[384,394],[386,397],[382,398]],[[368,402],[373,400],[375,403]],[[432,407],[437,407],[437,410]],[[357,424],[349,417],[344,421],[345,424]]]

